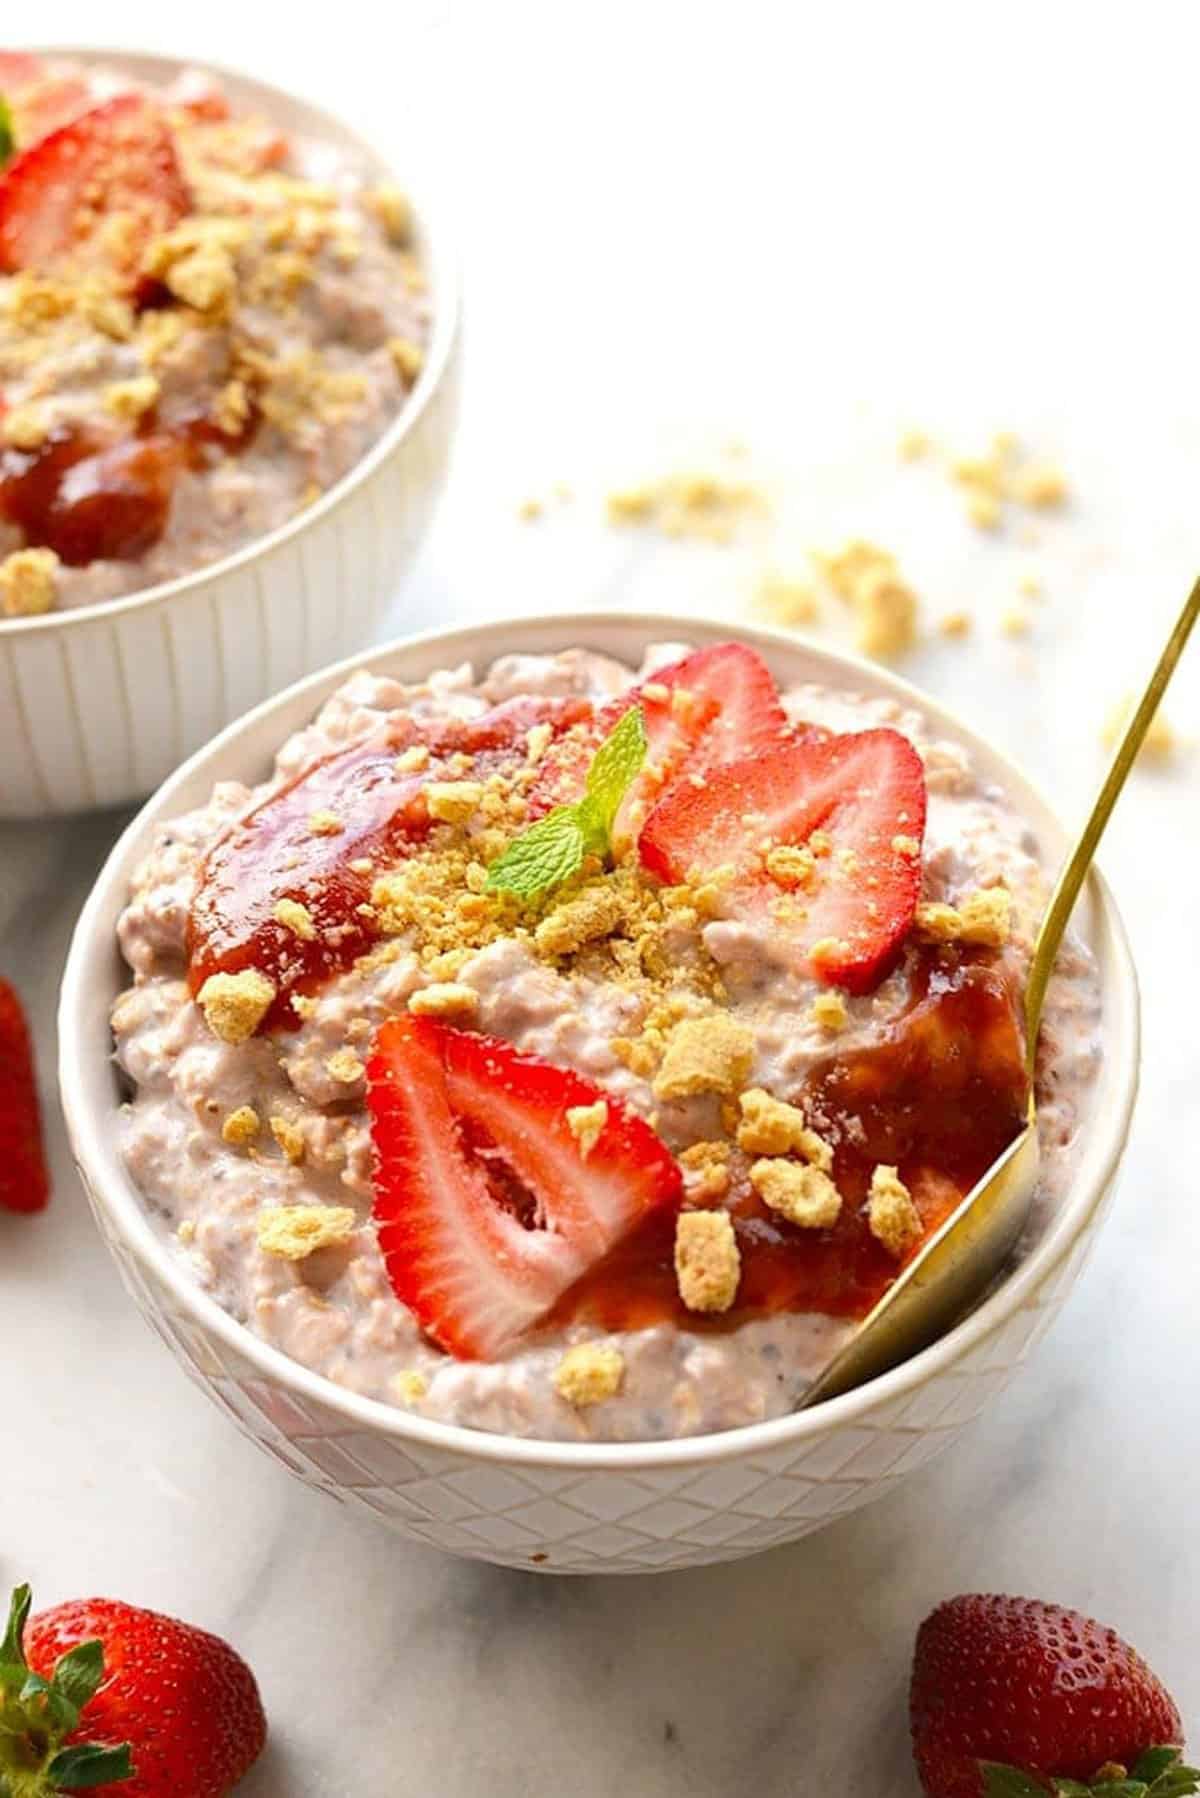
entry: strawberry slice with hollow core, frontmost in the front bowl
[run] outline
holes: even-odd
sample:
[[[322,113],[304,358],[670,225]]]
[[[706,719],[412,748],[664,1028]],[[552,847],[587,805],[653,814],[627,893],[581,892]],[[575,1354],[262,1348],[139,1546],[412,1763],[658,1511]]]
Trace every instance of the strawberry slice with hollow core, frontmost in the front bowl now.
[[[682,1176],[599,1086],[434,1018],[392,1018],[367,1064],[374,1217],[392,1291],[461,1359],[504,1354]],[[603,1100],[585,1154],[567,1111]]]

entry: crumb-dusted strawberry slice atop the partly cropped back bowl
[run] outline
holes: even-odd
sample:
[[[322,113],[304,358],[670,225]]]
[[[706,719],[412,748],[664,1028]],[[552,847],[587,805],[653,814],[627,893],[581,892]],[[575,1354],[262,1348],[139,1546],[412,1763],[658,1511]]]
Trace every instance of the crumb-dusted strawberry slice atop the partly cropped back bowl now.
[[[189,207],[162,115],[142,95],[121,93],[31,144],[4,171],[0,270],[70,257],[133,273],[149,237]],[[128,230],[113,232],[117,219],[128,219]]]

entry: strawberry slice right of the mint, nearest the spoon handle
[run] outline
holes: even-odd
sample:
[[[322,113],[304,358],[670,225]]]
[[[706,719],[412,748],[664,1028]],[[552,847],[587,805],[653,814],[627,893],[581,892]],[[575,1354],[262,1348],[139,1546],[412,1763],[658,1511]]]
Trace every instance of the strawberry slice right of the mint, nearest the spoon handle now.
[[[784,901],[765,852],[808,845],[813,831],[824,838],[813,868]],[[907,737],[811,734],[718,768],[702,786],[680,780],[646,820],[640,859],[673,885],[736,868],[736,913],[777,919],[775,939],[799,948],[806,973],[869,992],[912,926],[923,836],[925,770]]]

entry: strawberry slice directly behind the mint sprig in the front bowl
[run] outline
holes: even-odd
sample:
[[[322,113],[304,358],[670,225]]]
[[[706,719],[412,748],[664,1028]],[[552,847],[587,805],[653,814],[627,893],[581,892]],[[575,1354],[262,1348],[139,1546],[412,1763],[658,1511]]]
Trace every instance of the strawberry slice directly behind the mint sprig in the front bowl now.
[[[587,728],[563,737],[542,762],[529,797],[531,818],[581,797],[596,750],[633,705],[646,721],[646,766],[621,813],[631,834],[673,780],[757,755],[788,730],[763,658],[745,644],[711,644],[657,669],[603,707]]]

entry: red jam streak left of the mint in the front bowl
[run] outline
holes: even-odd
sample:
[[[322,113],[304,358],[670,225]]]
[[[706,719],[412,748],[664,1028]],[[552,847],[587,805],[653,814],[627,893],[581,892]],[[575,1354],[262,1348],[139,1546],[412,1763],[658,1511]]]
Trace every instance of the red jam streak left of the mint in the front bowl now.
[[[313,992],[378,940],[371,910],[376,865],[394,865],[428,834],[425,788],[453,779],[448,759],[475,757],[470,777],[486,780],[524,762],[525,734],[534,725],[561,732],[588,714],[583,699],[511,699],[477,719],[401,714],[367,743],[306,768],[205,856],[187,924],[193,992],[209,975],[257,967],[279,989],[263,1027],[293,1027],[291,996]],[[416,744],[428,748],[428,764],[399,773],[398,755]],[[342,829],[315,832],[315,813],[331,813]],[[277,922],[281,899],[308,910],[311,939]]]

